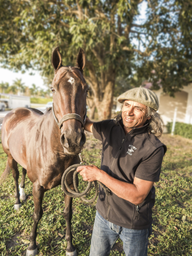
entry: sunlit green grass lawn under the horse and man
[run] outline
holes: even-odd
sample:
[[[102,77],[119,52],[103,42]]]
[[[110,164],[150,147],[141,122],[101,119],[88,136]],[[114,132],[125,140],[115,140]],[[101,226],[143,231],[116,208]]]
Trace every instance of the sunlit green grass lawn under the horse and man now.
[[[161,179],[155,184],[153,234],[148,243],[148,255],[189,256],[192,255],[192,143],[180,136],[174,136],[173,139],[170,135],[163,135],[162,142],[168,145],[168,150],[163,160]],[[101,143],[88,134],[83,150],[84,159],[100,166],[100,156]],[[0,174],[6,161],[7,155],[0,144]],[[19,170],[21,173],[20,166]],[[13,209],[14,193],[14,179],[10,175],[0,190],[1,256],[25,255],[33,226],[32,183],[28,177],[25,187],[27,200],[22,202],[19,211]],[[39,222],[37,236],[39,256],[65,255],[67,243],[64,238],[66,223],[63,201],[60,186],[45,193],[44,214]],[[87,204],[81,199],[74,199],[72,233],[80,256],[89,255],[95,211],[95,203]],[[183,216],[186,217],[185,221],[182,221]],[[110,256],[112,255],[124,255],[121,241],[113,248]]]

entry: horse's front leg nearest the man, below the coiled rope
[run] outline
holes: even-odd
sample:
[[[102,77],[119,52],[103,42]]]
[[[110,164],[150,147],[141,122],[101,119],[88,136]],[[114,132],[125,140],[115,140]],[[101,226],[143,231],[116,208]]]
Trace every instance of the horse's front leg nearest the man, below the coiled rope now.
[[[74,189],[74,185],[70,185],[71,189]],[[77,251],[75,249],[75,246],[72,243],[72,232],[71,232],[71,219],[72,219],[72,197],[68,195],[65,196],[65,209],[64,209],[64,218],[67,223],[67,231],[65,238],[67,240],[67,249],[66,249],[66,255],[67,256],[77,256]]]

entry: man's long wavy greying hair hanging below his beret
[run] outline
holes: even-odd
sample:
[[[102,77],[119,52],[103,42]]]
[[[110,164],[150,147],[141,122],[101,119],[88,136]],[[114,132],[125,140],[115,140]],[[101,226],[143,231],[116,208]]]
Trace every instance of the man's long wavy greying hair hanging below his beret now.
[[[117,114],[117,116],[114,117],[114,122],[116,125],[118,125],[117,122],[122,119],[122,108],[123,105],[121,106],[121,111]],[[148,132],[149,134],[153,133],[155,137],[160,138],[163,133],[163,120],[156,110],[147,106],[147,117],[150,116],[151,119],[146,121],[148,123]]]

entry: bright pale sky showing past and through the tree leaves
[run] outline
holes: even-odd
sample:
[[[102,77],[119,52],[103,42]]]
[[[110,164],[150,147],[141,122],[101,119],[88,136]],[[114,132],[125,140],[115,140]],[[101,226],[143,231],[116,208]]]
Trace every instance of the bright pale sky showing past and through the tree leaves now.
[[[140,17],[137,21],[137,23],[142,22],[142,20],[145,19],[146,14],[146,8],[147,8],[147,2],[143,1],[140,6]],[[135,44],[137,44],[136,41],[134,41]],[[22,83],[25,83],[26,86],[31,87],[31,85],[34,83],[37,87],[40,87],[41,89],[47,89],[47,87],[44,85],[44,80],[39,75],[38,71],[32,71],[34,75],[29,75],[31,71],[26,71],[24,74],[19,72],[14,72],[9,69],[1,68],[0,67],[0,82],[8,82],[10,86],[13,83],[13,80],[16,78],[22,79]]]

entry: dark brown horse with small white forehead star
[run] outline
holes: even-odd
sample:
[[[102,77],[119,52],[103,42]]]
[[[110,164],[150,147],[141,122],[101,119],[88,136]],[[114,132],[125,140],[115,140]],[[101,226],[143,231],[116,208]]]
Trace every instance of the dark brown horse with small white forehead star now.
[[[82,123],[76,119],[68,119],[57,125],[63,116],[75,113],[82,119],[86,113],[86,96],[88,86],[83,78],[85,55],[79,50],[76,67],[63,67],[59,48],[52,54],[54,79],[51,85],[54,102],[54,118],[52,109],[45,114],[30,108],[16,108],[8,113],[2,125],[2,145],[8,156],[8,165],[12,169],[15,180],[15,209],[21,206],[20,196],[25,198],[25,175],[33,182],[34,225],[30,234],[30,244],[26,255],[37,255],[37,226],[42,217],[42,200],[44,193],[61,184],[62,175],[69,166],[79,163],[78,154],[86,141]],[[19,194],[18,163],[23,167]],[[68,184],[73,188],[72,175]],[[20,197],[20,198],[19,198]],[[77,255],[72,244],[71,218],[72,198],[64,195],[64,218],[67,222],[66,255]]]

